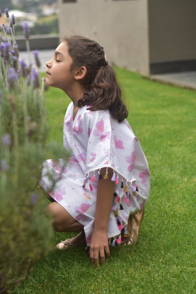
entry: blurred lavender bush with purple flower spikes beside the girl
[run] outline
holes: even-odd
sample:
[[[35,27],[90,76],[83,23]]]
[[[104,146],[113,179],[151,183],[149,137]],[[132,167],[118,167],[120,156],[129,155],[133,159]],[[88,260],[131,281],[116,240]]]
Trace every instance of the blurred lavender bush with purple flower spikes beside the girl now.
[[[46,86],[42,81],[40,88],[32,63],[19,62],[14,15],[9,19],[8,9],[5,13],[9,26],[2,24],[0,36],[0,293],[25,280],[50,249],[51,216],[43,213],[38,183],[46,158],[68,158],[62,146],[46,146]],[[27,24],[24,36],[28,41]],[[62,162],[65,166],[66,159],[63,167]],[[50,173],[50,178],[55,184],[57,177]]]

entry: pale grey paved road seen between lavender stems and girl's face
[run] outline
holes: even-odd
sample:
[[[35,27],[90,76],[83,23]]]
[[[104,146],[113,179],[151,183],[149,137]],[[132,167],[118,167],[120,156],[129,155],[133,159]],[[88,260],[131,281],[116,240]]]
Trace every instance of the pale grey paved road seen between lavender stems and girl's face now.
[[[54,50],[55,49],[48,49],[48,50],[38,50],[38,56],[39,56],[39,59],[40,59],[40,62],[41,62],[41,67],[37,69],[37,71],[39,72],[44,72],[46,71],[47,67],[46,67],[46,62],[48,60],[50,60],[52,57],[53,57],[53,54],[54,54]],[[34,61],[34,55],[33,53],[31,52],[31,62],[35,62]],[[26,51],[20,51],[19,52],[19,60],[21,59],[24,59],[26,61],[27,64],[29,64],[29,59],[28,59],[28,54]]]

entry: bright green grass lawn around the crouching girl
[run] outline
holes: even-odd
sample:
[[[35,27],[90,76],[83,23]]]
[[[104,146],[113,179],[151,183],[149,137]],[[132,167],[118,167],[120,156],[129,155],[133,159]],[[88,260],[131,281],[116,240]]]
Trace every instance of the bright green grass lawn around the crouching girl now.
[[[196,92],[115,70],[130,104],[128,121],[151,173],[138,243],[112,247],[99,268],[93,268],[84,248],[52,251],[14,294],[196,293]],[[48,90],[49,141],[63,143],[70,102],[62,91]],[[54,232],[52,243],[74,235]]]

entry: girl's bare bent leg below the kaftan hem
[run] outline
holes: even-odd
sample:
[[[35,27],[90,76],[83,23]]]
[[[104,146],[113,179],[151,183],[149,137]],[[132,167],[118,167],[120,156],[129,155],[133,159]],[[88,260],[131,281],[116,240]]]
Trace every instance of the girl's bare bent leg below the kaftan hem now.
[[[53,227],[57,232],[81,231],[71,239],[70,244],[86,244],[84,226],[75,220],[61,204],[52,202],[46,206],[46,211],[50,211],[53,214]]]

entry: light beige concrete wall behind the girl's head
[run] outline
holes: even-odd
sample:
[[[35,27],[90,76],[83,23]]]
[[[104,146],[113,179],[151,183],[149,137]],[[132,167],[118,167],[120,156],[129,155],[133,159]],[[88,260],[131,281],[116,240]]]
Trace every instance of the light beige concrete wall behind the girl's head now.
[[[74,29],[102,45],[111,64],[149,74],[148,0],[58,0],[58,5],[61,38]]]

